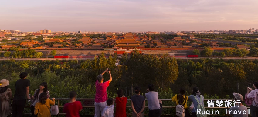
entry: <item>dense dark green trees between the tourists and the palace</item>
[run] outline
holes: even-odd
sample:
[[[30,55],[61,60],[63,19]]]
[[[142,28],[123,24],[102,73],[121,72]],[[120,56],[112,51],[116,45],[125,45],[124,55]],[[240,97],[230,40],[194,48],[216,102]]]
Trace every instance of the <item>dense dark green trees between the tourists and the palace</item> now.
[[[222,52],[221,52],[222,53]],[[141,55],[133,52],[130,55],[122,55],[121,64],[116,66],[116,58],[105,58],[104,54],[95,57],[94,60],[69,60],[69,61],[0,61],[0,77],[10,80],[12,93],[15,91],[15,81],[19,79],[19,73],[26,71],[31,81],[30,94],[46,81],[50,97],[68,98],[71,90],[77,92],[77,98],[94,98],[95,82],[98,74],[106,68],[110,68],[113,80],[107,88],[108,97],[115,97],[117,89],[123,89],[124,95],[130,98],[134,95],[133,88],[141,86],[141,93],[146,93],[148,84],[155,85],[159,98],[171,99],[178,93],[181,87],[191,94],[192,87],[197,86],[205,99],[229,99],[232,92],[242,95],[246,93],[246,86],[257,81],[258,61],[224,61],[222,59],[198,59],[197,61],[171,58],[167,55],[157,57],[153,55]],[[104,81],[109,79],[104,74]],[[239,84],[239,91],[237,91]],[[67,101],[61,101],[67,103]],[[129,106],[128,103],[127,106]],[[165,106],[175,106],[168,101]],[[189,105],[190,106],[190,103]],[[84,109],[81,114],[93,114],[94,109]],[[29,110],[27,110],[29,111]],[[148,110],[145,110],[148,111]],[[165,113],[174,113],[175,110],[165,109]],[[127,109],[127,113],[131,113]]]

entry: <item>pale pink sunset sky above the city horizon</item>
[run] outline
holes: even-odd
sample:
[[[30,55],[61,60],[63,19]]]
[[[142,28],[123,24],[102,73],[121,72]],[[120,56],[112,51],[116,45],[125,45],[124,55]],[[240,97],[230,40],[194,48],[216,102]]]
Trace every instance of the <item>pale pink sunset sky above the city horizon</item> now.
[[[258,29],[258,0],[2,0],[0,29],[188,31]]]

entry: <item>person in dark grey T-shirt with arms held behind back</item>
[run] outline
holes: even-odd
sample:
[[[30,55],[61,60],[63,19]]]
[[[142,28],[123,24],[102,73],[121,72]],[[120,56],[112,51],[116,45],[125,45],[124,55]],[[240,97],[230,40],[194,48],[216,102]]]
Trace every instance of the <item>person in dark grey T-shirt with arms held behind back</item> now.
[[[141,87],[134,88],[135,95],[131,97],[131,106],[133,110],[132,117],[144,117],[143,111],[145,108],[145,97],[140,95]]]

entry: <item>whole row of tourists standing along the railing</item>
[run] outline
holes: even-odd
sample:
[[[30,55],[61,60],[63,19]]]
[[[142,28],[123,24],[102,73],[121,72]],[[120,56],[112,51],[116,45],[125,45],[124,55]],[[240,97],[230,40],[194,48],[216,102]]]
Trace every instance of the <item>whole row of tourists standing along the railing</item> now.
[[[109,73],[109,80],[103,82],[103,74]],[[0,81],[0,117],[10,116],[21,117],[25,108],[26,98],[32,99],[31,101],[31,113],[32,117],[51,117],[50,108],[51,105],[55,105],[55,98],[50,100],[49,91],[47,90],[47,83],[43,82],[40,84],[33,96],[29,96],[30,81],[26,79],[26,72],[20,73],[20,78],[15,82],[15,94],[12,98],[12,91],[8,88],[9,81],[2,79]],[[107,97],[107,87],[112,81],[110,69],[106,69],[102,74],[97,76],[96,95],[95,95],[95,117],[126,117],[126,104],[127,97],[124,96],[123,90],[117,90],[117,97]],[[250,87],[247,88],[246,100],[250,101],[250,113],[252,117],[258,117],[258,82],[254,82],[252,90]],[[162,114],[162,101],[158,99],[158,92],[154,91],[154,85],[149,84],[145,97],[148,101],[148,116],[159,117]],[[179,94],[172,97],[172,101],[176,103],[176,115],[179,117],[205,117],[207,115],[200,115],[197,113],[197,109],[205,110],[204,108],[204,97],[199,92],[198,87],[193,87],[192,95],[186,96],[185,89],[181,88]],[[136,86],[134,88],[135,95],[131,97],[131,107],[133,117],[144,117],[145,108],[145,97],[142,96],[141,87]],[[243,103],[243,96],[239,93],[233,93],[234,99],[240,104],[239,106],[232,106],[230,111],[246,111],[246,106]],[[71,91],[69,94],[70,102],[66,103],[63,108],[63,112],[66,113],[66,117],[80,117],[79,112],[83,109],[80,101],[76,101],[76,92]],[[13,100],[11,103],[11,99]],[[190,111],[188,110],[187,102],[192,102]],[[114,114],[114,105],[116,103],[116,112]],[[12,107],[11,107],[12,106]],[[190,115],[190,113],[192,113]],[[234,117],[247,117],[248,114],[232,114]]]

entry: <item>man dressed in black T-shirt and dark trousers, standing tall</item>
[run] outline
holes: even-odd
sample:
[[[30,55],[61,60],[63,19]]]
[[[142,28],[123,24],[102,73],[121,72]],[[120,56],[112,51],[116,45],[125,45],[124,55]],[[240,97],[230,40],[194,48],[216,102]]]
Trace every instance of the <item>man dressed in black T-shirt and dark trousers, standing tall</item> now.
[[[12,101],[12,117],[22,117],[26,105],[26,96],[29,97],[29,79],[26,79],[28,73],[20,73],[20,78],[15,82],[15,93]]]

